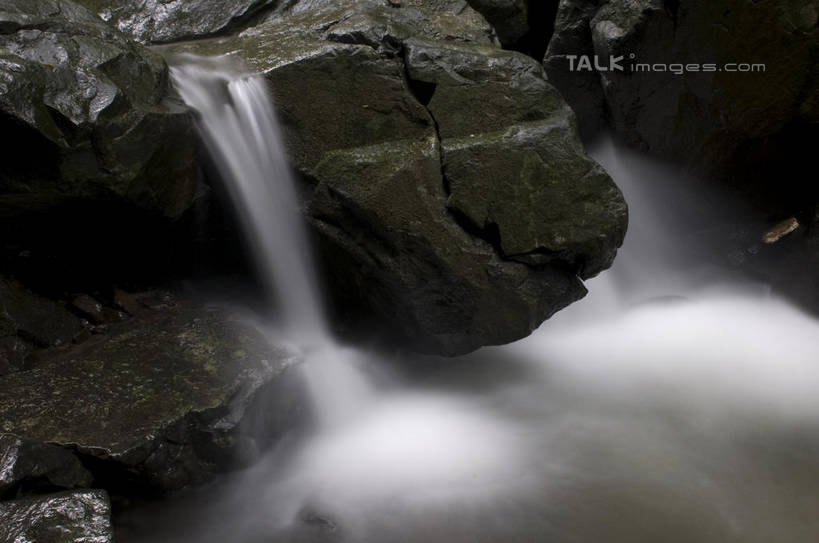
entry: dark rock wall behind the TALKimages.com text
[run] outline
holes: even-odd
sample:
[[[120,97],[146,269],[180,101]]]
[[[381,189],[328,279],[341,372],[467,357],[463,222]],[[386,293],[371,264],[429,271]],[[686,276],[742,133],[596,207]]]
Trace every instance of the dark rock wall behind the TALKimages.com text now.
[[[753,162],[752,142],[819,122],[816,0],[596,4],[562,2],[545,60],[584,124],[601,116],[602,89],[612,126],[630,144],[714,171]],[[622,57],[625,69],[568,71],[567,54],[590,53],[606,65]]]

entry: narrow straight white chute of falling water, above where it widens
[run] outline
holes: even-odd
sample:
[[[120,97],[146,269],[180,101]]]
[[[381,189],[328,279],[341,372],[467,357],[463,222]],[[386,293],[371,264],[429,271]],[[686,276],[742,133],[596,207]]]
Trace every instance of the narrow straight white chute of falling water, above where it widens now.
[[[264,79],[228,59],[186,57],[171,68],[224,178],[262,281],[301,342],[326,337],[293,174]]]

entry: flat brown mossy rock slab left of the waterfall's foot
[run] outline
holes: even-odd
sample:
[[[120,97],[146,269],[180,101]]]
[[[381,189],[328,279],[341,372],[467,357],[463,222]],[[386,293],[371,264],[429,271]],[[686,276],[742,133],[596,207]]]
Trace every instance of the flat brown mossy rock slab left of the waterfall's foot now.
[[[133,494],[246,465],[298,422],[295,359],[225,310],[183,302],[0,381],[0,431],[59,445]],[[20,454],[18,463],[36,463]]]

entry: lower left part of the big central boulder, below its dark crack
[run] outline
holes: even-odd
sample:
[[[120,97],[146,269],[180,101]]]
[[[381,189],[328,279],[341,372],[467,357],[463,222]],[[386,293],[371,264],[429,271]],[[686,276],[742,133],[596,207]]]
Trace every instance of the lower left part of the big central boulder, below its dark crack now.
[[[309,213],[336,288],[418,350],[513,341],[585,293],[574,274],[503,259],[458,225],[434,137],[328,153],[314,175]]]

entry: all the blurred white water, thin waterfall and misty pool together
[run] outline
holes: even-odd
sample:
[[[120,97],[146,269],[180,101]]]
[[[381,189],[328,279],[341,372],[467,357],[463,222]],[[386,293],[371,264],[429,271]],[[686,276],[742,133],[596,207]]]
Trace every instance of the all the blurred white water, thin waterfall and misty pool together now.
[[[589,296],[516,344],[392,364],[329,339],[263,85],[202,62],[174,79],[319,410],[345,416],[131,513],[126,541],[819,541],[819,322],[709,263],[691,233],[730,211],[601,144],[631,223]]]

